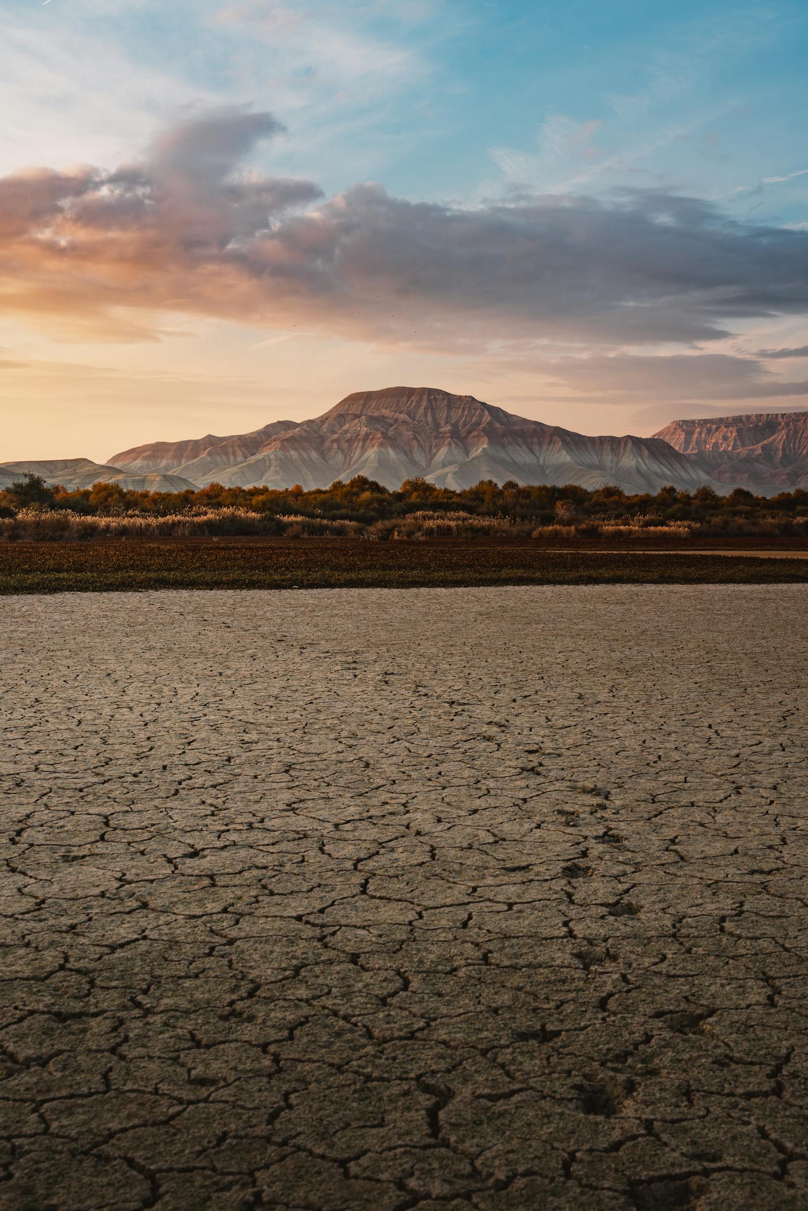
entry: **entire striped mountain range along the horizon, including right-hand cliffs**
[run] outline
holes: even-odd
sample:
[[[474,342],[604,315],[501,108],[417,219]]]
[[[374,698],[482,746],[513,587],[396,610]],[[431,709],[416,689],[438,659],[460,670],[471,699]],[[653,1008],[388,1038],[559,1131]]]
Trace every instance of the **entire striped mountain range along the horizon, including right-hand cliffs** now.
[[[808,484],[808,413],[676,420],[653,437],[590,437],[432,388],[357,391],[314,420],[275,420],[248,434],[151,442],[88,459],[0,464],[0,487],[35,471],[68,488],[98,480],[178,492],[208,483],[327,488],[365,475],[386,488],[423,476],[439,487],[614,483],[772,494]]]

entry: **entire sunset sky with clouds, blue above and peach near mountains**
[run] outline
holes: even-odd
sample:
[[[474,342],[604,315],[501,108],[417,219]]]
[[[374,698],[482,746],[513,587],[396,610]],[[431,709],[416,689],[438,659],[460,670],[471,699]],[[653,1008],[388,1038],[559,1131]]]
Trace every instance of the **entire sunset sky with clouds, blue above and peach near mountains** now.
[[[808,8],[5,0],[0,461],[808,409]]]

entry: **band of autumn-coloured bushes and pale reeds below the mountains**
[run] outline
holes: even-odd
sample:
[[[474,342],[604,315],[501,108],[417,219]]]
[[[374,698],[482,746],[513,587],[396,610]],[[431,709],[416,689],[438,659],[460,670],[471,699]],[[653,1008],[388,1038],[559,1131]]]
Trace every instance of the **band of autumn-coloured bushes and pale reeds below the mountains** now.
[[[503,484],[440,488],[406,480],[390,492],[365,476],[329,488],[267,487],[133,492],[116,483],[65,490],[41,484],[0,492],[0,536],[173,538],[219,535],[395,539],[635,539],[808,536],[808,490],[756,497],[674,487],[630,495],[615,484]]]

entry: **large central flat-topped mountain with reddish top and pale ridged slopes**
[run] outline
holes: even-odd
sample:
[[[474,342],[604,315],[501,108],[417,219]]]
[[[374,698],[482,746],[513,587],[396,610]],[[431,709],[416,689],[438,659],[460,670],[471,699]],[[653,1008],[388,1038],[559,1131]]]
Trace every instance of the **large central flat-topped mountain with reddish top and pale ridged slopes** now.
[[[710,476],[698,460],[653,437],[586,437],[516,417],[474,396],[434,388],[357,391],[314,420],[275,421],[236,437],[155,442],[113,455],[124,470],[161,471],[200,486],[327,488],[365,475],[386,488],[423,476],[437,486],[615,483],[694,490]]]

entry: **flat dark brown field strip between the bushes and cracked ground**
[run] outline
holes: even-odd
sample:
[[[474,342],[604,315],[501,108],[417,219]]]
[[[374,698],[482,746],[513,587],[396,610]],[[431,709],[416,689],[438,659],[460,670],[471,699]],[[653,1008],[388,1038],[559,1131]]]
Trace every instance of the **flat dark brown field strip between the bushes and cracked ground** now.
[[[802,581],[808,581],[803,558],[565,551],[516,543],[208,539],[0,545],[0,593]]]

